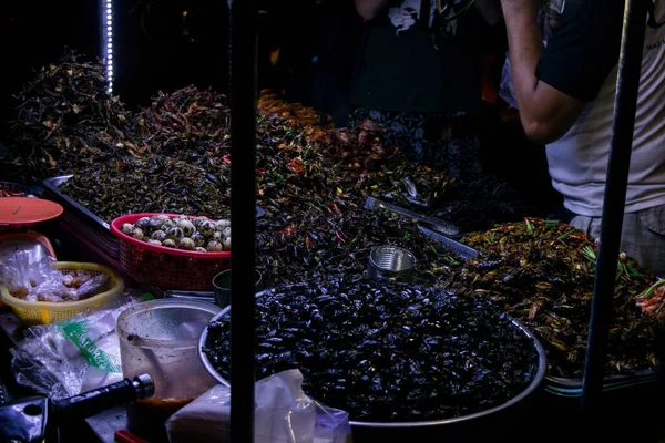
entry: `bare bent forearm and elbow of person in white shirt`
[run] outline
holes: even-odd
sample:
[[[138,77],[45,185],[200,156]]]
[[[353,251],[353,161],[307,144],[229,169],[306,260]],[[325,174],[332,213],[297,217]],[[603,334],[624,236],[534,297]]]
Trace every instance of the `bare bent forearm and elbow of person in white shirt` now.
[[[534,0],[501,0],[508,30],[511,74],[520,119],[526,135],[536,143],[562,137],[575,123],[584,103],[539,81],[538,62],[543,42]]]

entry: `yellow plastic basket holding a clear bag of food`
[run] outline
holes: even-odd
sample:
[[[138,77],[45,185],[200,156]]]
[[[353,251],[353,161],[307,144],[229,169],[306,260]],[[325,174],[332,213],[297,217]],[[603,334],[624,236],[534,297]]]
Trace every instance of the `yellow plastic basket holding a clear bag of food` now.
[[[3,284],[0,284],[0,300],[13,309],[14,313],[23,324],[48,324],[50,322],[64,320],[86,309],[96,308],[111,297],[124,290],[124,280],[122,277],[108,266],[90,262],[57,261],[54,267],[62,271],[62,274],[70,274],[76,270],[86,270],[92,276],[106,274],[109,279],[104,285],[98,288],[90,298],[60,303],[19,299],[11,296],[7,287]]]

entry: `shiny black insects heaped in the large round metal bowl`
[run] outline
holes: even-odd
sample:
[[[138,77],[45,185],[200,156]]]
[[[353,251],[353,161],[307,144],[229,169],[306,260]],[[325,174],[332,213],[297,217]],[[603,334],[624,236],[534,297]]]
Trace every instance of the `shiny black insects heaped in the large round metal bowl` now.
[[[483,411],[522,392],[538,352],[483,297],[388,281],[278,287],[257,300],[257,378],[298,368],[307,394],[351,420],[405,422]],[[229,377],[229,317],[204,352]]]

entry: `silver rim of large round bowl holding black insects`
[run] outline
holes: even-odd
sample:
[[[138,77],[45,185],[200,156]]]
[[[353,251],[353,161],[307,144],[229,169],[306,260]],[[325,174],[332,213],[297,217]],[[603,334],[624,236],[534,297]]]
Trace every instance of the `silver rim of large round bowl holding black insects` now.
[[[267,289],[265,291],[258,292],[256,295],[256,297],[262,297],[263,295],[266,295],[269,292],[270,292],[270,289]],[[215,317],[212,318],[211,322],[219,320],[229,310],[231,310],[231,306],[224,308],[223,310],[217,312],[215,315]],[[447,426],[448,427],[448,426],[457,425],[457,424],[468,424],[469,422],[475,422],[479,419],[490,418],[499,412],[504,412],[505,410],[511,409],[512,406],[516,405],[518,403],[521,403],[523,400],[525,400],[526,398],[534,394],[538,391],[538,389],[541,387],[541,384],[543,383],[543,380],[545,379],[545,371],[548,369],[548,360],[546,360],[545,350],[542,347],[542,344],[540,343],[540,341],[538,341],[535,336],[530,330],[528,330],[523,324],[521,324],[519,321],[516,321],[515,319],[511,318],[511,321],[514,326],[516,326],[520,329],[520,331],[522,331],[522,333],[524,336],[526,336],[528,338],[531,339],[531,341],[533,342],[533,346],[538,352],[538,371],[535,372],[535,375],[533,377],[533,380],[531,381],[531,383],[516,396],[512,398],[508,402],[500,404],[498,406],[494,406],[494,408],[491,408],[491,409],[488,409],[488,410],[484,410],[481,412],[475,412],[475,413],[469,414],[469,415],[456,416],[452,419],[431,420],[431,421],[422,421],[422,422],[358,422],[358,421],[351,421],[350,422],[351,426],[354,426],[355,430],[357,430],[357,429],[367,429],[367,430],[408,429],[408,430],[413,430],[413,429],[423,429],[423,427],[430,429],[430,427],[438,427],[438,426]],[[215,368],[208,360],[207,354],[205,352],[203,352],[202,349],[206,348],[207,346],[208,346],[208,332],[207,332],[207,328],[205,328],[203,333],[201,334],[201,339],[198,340],[198,356],[201,357],[201,361],[203,362],[203,365],[209,372],[209,374],[215,380],[217,380],[217,382],[219,382],[219,384],[229,387],[231,385],[229,382],[227,380],[225,380],[224,378],[222,378],[222,375],[219,375],[217,373],[217,371],[215,370]]]

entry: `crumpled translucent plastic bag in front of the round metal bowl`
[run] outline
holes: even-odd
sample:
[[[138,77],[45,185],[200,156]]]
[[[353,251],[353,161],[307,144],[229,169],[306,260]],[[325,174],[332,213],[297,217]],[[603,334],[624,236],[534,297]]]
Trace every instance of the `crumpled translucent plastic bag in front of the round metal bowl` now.
[[[256,383],[255,443],[346,443],[351,427],[346,412],[327,408],[303,392],[297,369]],[[216,385],[166,422],[171,443],[228,442],[231,388]]]

